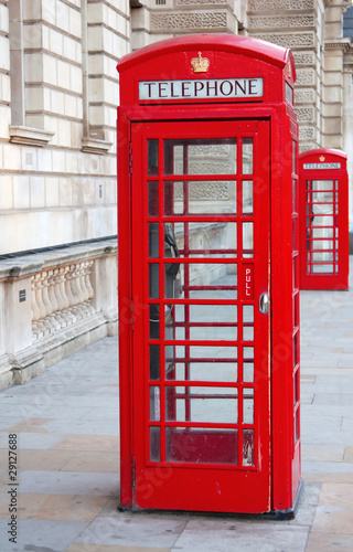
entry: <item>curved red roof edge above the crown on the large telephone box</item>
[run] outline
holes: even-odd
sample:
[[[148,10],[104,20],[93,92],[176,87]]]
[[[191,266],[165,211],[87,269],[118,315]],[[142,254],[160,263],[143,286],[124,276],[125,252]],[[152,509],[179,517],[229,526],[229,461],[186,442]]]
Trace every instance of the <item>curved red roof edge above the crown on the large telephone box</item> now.
[[[279,68],[284,68],[290,61],[292,79],[293,82],[296,81],[293,56],[289,49],[252,36],[239,36],[234,34],[188,34],[175,39],[162,40],[122,56],[117,68],[119,72],[124,72],[153,57],[178,51],[186,52],[201,47],[247,55]]]

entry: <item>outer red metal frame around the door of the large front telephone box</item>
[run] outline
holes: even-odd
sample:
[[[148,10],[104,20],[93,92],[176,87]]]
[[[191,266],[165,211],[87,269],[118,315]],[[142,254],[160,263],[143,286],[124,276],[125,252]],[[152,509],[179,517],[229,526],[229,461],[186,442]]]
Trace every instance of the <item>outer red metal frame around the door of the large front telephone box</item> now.
[[[194,121],[234,120],[234,119],[267,119],[270,126],[270,159],[264,162],[270,170],[270,245],[271,259],[271,340],[270,359],[264,359],[267,365],[270,360],[270,423],[271,423],[271,485],[270,509],[287,511],[293,507],[300,481],[300,438],[295,437],[293,394],[295,379],[299,379],[299,343],[295,354],[293,338],[299,335],[293,328],[293,304],[298,301],[298,289],[293,284],[293,251],[292,251],[292,140],[298,140],[298,127],[292,107],[285,100],[287,83],[292,87],[295,67],[291,54],[284,49],[250,39],[227,35],[183,36],[163,43],[154,44],[141,52],[122,59],[119,64],[121,107],[118,110],[118,209],[119,209],[119,351],[120,351],[120,448],[121,448],[121,507],[139,508],[133,502],[135,488],[133,465],[136,460],[136,444],[140,428],[133,424],[135,408],[141,405],[133,401],[132,385],[133,362],[132,335],[137,318],[143,312],[140,297],[132,297],[132,273],[141,274],[141,266],[131,265],[131,240],[133,225],[131,214],[135,206],[130,195],[129,145],[131,126],[148,125],[148,121]],[[204,104],[190,102],[179,105],[142,105],[137,98],[139,79],[158,78],[160,67],[173,67],[171,78],[193,78],[185,70],[185,60],[196,55],[199,50],[212,56],[212,76],[228,76],[229,67],[234,72],[242,71],[242,76],[257,75],[264,77],[264,98],[260,102],[221,103],[212,102],[205,112]],[[220,71],[220,72],[218,72]],[[238,73],[239,74],[239,73]],[[204,76],[208,76],[207,74]],[[165,71],[163,73],[165,77]],[[141,170],[141,168],[135,170]],[[139,163],[138,163],[139,164]],[[132,230],[132,237],[131,237]],[[267,245],[266,245],[267,247]],[[142,275],[141,275],[142,276]],[[133,302],[131,302],[131,298]],[[132,307],[131,307],[132,305]],[[133,312],[130,309],[133,308]],[[136,331],[136,330],[135,330]],[[298,342],[298,339],[297,339]],[[293,359],[296,359],[293,363]],[[295,365],[293,365],[295,364]],[[298,384],[297,384],[298,388]],[[299,399],[299,391],[297,391]],[[299,412],[299,401],[296,411]],[[298,416],[297,416],[298,417]],[[132,466],[132,468],[131,468]],[[195,468],[196,469],[196,468]],[[207,469],[196,469],[206,473]],[[225,470],[226,471],[226,470]],[[156,469],[154,485],[163,486],[161,474]],[[141,482],[141,481],[140,481]],[[142,481],[143,482],[143,481]],[[150,484],[150,481],[148,481]],[[204,480],[206,488],[206,480]],[[148,486],[147,489],[150,487]],[[179,489],[178,489],[179,490]],[[192,488],[189,489],[192,492]],[[176,489],[175,489],[176,491]],[[234,492],[234,490],[232,491]],[[243,497],[240,511],[258,511],[256,493]],[[153,500],[150,508],[154,508]],[[184,509],[183,503],[178,506]],[[175,503],[170,501],[169,508]],[[203,508],[207,510],[206,496]],[[224,511],[222,503],[218,509]],[[229,509],[232,511],[232,509]],[[239,510],[237,510],[239,511]]]

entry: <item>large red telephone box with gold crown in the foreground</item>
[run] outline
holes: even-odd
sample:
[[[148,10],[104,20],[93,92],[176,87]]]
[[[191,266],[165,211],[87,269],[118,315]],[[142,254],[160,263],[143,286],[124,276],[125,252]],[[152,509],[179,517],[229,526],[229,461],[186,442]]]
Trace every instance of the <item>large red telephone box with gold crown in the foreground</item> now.
[[[188,35],[118,70],[121,508],[292,516],[292,55]]]

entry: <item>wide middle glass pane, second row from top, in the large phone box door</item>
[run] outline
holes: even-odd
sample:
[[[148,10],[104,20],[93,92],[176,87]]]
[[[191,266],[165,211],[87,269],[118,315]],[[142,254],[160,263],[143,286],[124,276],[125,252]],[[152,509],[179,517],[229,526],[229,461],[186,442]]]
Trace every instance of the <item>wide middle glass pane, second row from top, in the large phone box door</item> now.
[[[236,181],[164,182],[164,214],[236,214]]]

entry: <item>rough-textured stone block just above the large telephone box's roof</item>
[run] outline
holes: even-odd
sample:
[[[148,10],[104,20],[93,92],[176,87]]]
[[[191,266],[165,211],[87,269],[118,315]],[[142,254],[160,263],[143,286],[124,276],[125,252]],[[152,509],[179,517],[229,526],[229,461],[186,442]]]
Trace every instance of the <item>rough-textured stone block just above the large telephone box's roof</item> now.
[[[202,30],[235,31],[235,18],[226,11],[151,13],[152,32],[188,32]]]

